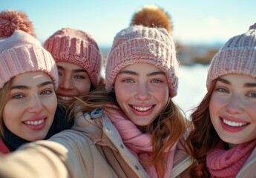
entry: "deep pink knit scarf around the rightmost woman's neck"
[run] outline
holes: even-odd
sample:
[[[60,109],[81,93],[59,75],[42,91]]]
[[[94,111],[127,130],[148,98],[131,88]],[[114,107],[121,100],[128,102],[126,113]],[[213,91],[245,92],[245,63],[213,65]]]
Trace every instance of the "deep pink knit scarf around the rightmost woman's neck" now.
[[[225,150],[223,142],[209,151],[206,164],[211,177],[235,177],[255,148],[256,139]]]

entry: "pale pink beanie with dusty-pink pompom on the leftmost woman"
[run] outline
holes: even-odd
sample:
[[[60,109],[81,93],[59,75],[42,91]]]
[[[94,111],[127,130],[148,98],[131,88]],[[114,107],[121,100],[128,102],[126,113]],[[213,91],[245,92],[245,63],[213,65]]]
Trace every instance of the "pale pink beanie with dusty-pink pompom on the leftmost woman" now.
[[[29,34],[34,33],[27,16],[17,12],[0,13],[0,88],[13,76],[33,71],[47,73],[58,88],[56,63],[42,44]]]

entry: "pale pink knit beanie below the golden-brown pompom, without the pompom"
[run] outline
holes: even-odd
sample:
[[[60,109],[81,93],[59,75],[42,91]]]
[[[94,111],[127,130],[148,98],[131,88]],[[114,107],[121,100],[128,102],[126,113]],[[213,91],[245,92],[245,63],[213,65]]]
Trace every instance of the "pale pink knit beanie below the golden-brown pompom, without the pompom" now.
[[[168,79],[170,96],[177,94],[176,50],[167,30],[134,25],[116,34],[105,73],[106,90],[111,91],[117,73],[128,65],[148,63],[159,67]]]

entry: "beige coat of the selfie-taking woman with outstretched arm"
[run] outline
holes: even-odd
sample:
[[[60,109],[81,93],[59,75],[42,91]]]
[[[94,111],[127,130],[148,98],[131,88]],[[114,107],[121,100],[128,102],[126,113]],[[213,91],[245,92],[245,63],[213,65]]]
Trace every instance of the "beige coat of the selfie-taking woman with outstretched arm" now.
[[[173,173],[189,164],[181,140],[174,156]],[[185,167],[180,165],[186,165]],[[181,169],[181,170],[180,170]],[[183,174],[180,174],[183,172]],[[0,159],[0,177],[148,177],[137,158],[122,142],[119,133],[101,111],[76,117],[72,130],[62,131],[47,141],[22,146]]]

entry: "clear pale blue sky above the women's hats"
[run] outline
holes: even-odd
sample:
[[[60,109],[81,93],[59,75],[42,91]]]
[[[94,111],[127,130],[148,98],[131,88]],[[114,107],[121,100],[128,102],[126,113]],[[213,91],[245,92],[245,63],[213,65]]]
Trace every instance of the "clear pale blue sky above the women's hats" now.
[[[256,22],[255,0],[0,0],[0,10],[27,13],[41,42],[62,27],[72,27],[87,31],[102,47],[110,46],[145,4],[156,4],[171,15],[174,40],[184,44],[226,42]]]

